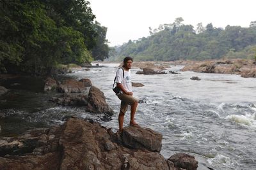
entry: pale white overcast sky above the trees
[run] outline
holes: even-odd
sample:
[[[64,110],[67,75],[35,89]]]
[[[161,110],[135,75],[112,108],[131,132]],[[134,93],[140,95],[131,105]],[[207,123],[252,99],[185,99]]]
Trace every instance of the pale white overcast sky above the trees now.
[[[173,23],[212,23],[214,27],[249,27],[256,20],[256,0],[88,0],[101,25],[108,27],[109,46],[149,36],[148,27]]]

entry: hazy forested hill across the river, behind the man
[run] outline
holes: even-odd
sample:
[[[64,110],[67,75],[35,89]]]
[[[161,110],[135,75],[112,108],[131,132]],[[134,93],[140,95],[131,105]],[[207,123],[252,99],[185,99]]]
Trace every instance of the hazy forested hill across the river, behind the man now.
[[[227,25],[225,29],[212,24],[182,24],[176,18],[172,24],[149,27],[150,36],[115,46],[109,53],[110,60],[124,56],[135,60],[205,60],[244,58],[256,59],[256,21],[250,27]]]

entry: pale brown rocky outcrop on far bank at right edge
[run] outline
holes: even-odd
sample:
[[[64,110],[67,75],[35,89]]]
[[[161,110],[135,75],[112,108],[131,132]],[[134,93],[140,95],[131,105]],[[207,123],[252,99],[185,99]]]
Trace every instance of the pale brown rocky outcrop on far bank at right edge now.
[[[256,65],[253,64],[253,60],[242,59],[191,62],[181,71],[240,74],[243,77],[256,77]]]

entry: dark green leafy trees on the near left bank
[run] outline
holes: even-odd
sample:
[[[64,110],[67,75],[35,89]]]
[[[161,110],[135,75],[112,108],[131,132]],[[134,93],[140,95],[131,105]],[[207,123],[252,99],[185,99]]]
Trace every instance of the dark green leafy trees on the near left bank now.
[[[108,57],[107,28],[85,0],[1,0],[0,73],[52,74]]]

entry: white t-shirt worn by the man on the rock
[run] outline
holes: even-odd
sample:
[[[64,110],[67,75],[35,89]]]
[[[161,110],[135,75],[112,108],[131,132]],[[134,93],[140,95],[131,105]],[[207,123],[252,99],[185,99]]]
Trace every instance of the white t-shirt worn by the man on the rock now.
[[[116,80],[115,83],[122,83],[124,89],[127,92],[132,92],[132,79],[131,79],[131,71],[125,71],[124,69],[124,79],[123,79],[123,69],[118,69],[116,71]]]

